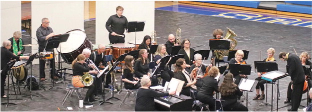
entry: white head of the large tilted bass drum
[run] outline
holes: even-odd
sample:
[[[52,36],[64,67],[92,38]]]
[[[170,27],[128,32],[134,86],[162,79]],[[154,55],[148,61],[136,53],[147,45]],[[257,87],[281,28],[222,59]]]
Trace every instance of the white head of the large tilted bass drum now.
[[[69,33],[67,41],[60,43],[61,53],[70,53],[78,49],[86,38],[86,34],[81,30],[71,30],[67,33]],[[59,51],[59,49],[57,50]]]

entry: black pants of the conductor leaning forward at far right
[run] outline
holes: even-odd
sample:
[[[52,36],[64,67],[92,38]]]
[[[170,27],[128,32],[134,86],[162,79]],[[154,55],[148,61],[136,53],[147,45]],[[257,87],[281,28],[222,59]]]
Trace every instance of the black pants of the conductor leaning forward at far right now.
[[[291,111],[298,111],[302,99],[302,90],[304,82],[292,84],[291,91]]]

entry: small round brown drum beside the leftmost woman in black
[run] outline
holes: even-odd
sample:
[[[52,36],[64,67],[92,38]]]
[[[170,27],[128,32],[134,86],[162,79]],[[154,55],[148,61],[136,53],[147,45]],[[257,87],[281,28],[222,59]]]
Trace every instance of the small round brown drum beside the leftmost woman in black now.
[[[13,71],[13,76],[15,77],[16,80],[19,80],[21,82],[26,80],[28,73],[27,73],[27,68],[25,68],[24,66],[16,67],[12,69],[12,71]]]

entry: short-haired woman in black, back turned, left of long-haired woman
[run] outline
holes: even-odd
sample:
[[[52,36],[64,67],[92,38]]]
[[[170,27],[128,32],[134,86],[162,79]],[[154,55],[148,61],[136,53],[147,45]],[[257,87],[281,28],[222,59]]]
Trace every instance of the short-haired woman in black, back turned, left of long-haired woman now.
[[[214,92],[219,92],[218,82],[214,79],[219,73],[219,69],[215,66],[211,67],[208,71],[208,76],[203,78],[203,84],[201,89],[197,94],[197,99],[209,106],[210,111],[214,111],[214,102],[213,98]]]

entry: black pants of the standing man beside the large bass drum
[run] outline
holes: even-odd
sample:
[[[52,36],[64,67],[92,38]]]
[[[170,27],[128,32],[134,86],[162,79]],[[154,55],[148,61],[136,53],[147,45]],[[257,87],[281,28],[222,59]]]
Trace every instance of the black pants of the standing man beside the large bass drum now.
[[[43,49],[39,49],[39,53],[42,52],[42,51],[43,51]],[[48,49],[46,51],[50,51],[51,52],[52,49]],[[55,68],[53,68],[53,67],[55,67],[54,57],[53,57],[53,59],[50,59],[49,62],[50,62],[50,68],[51,68],[51,71],[50,71],[51,77],[50,78],[52,79],[53,76],[55,76]],[[41,78],[45,78],[44,67],[45,67],[45,60],[39,59],[39,78],[40,79]]]

